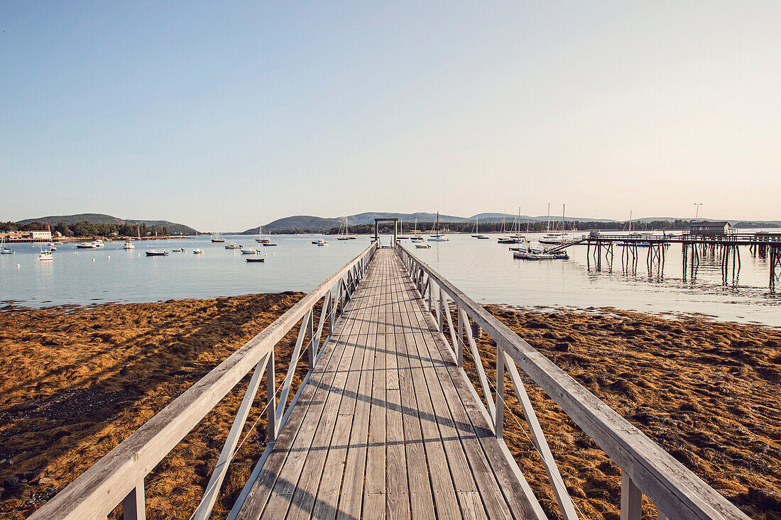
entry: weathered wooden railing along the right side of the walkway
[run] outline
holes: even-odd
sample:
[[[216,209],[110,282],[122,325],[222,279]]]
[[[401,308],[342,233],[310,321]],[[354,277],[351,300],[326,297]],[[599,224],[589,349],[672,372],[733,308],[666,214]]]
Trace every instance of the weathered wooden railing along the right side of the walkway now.
[[[429,265],[420,261],[401,244],[396,244],[396,250],[446,343],[448,343],[448,336],[450,337],[454,349],[452,354],[458,366],[463,369],[465,350],[472,355],[480,387],[486,398],[487,406],[483,406],[483,413],[500,440],[505,422],[505,373],[509,375],[521,404],[526,425],[531,430],[534,446],[542,458],[545,472],[564,518],[576,520],[578,518],[576,508],[573,507],[572,499],[567,493],[543,430],[537,421],[537,415],[526,394],[518,367],[526,372],[534,383],[537,383],[621,468],[622,520],[640,520],[644,494],[656,505],[658,518],[682,520],[690,518],[746,520],[748,518],[729,500],[518,337],[508,326],[433,271]],[[451,309],[454,307],[455,326],[451,317]],[[485,331],[496,344],[495,386],[487,378],[480,351],[477,350],[475,335],[480,333],[480,329]],[[475,390],[473,386],[470,388]],[[474,397],[483,404],[476,391]],[[501,443],[504,445],[504,441]],[[506,449],[505,457],[515,465],[512,455]]]

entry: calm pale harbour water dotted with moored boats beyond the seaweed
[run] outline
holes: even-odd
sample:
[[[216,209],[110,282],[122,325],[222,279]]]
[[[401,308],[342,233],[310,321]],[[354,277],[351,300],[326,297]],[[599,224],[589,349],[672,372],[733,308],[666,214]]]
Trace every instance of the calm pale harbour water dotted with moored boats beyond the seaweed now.
[[[449,237],[449,242],[431,242],[431,249],[412,248],[412,253],[481,303],[700,312],[781,326],[781,297],[768,289],[767,259],[752,257],[747,248],[741,248],[739,276],[733,278],[730,272],[724,283],[719,264],[708,260],[701,263],[694,280],[687,276],[684,281],[678,245],[667,251],[663,272],[654,269],[649,275],[644,251],[637,272],[622,270],[620,248],[612,272],[604,264],[596,272],[594,265],[587,267],[585,246],[570,248],[567,261],[530,262],[514,260],[508,246],[497,244],[494,235],[490,240]],[[253,237],[226,238],[255,246]],[[311,244],[313,238],[276,236],[278,247],[262,248],[266,262],[255,264],[244,262],[247,257],[241,251],[226,250],[208,237],[138,241],[130,251],[119,241],[101,249],[77,250],[75,244],[62,244],[53,262],[38,261],[32,244],[12,244],[16,255],[0,255],[0,300],[43,306],[308,291],[369,244],[368,237],[334,237],[321,248]],[[408,241],[403,243],[411,247]],[[187,252],[144,255],[148,249],[180,247]],[[205,252],[194,255],[194,248]]]

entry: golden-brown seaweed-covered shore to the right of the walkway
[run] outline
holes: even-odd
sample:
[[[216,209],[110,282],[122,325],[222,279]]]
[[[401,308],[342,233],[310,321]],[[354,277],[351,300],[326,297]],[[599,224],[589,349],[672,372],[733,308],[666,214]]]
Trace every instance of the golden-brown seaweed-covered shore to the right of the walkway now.
[[[779,329],[612,308],[487,310],[751,518],[781,518]],[[483,335],[478,347],[495,379],[494,345]],[[573,500],[587,518],[617,520],[619,468],[523,378]],[[546,512],[558,518],[512,391],[507,401],[520,419],[505,417],[505,441]],[[656,518],[647,499],[644,518]]]

